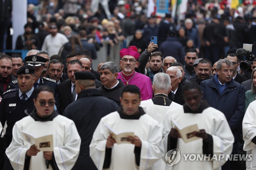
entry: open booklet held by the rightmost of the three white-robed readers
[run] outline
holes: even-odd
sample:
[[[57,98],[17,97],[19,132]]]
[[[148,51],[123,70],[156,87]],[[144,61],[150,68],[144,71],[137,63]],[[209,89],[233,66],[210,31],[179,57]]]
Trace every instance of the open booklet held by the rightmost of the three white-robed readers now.
[[[194,124],[194,125],[190,125],[190,126],[187,126],[185,128],[181,128],[176,122],[175,120],[171,119],[172,122],[174,123],[175,125],[175,129],[179,132],[181,138],[183,139],[183,141],[185,143],[189,143],[189,142],[192,142],[194,140],[198,140],[198,139],[202,139],[202,138],[198,138],[194,135],[194,132],[199,132],[199,128],[197,126],[197,124]]]

